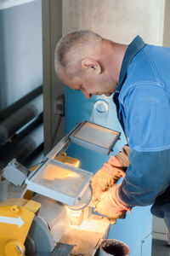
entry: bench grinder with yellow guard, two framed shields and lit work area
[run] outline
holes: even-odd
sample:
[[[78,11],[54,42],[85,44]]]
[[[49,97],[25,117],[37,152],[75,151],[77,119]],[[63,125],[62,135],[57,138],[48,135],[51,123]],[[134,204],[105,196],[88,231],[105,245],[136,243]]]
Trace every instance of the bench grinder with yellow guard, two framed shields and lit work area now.
[[[80,161],[65,150],[77,143],[110,154],[119,138],[120,132],[84,121],[33,172],[17,160],[8,163],[2,176],[20,187],[21,198],[0,203],[0,255],[94,255],[108,236],[110,221],[88,207],[93,173],[79,168]]]

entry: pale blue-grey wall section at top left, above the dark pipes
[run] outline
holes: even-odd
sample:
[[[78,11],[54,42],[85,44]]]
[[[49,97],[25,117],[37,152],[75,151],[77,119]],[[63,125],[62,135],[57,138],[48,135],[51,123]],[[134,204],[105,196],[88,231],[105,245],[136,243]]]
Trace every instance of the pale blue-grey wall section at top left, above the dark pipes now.
[[[42,84],[41,0],[0,7],[0,110]]]

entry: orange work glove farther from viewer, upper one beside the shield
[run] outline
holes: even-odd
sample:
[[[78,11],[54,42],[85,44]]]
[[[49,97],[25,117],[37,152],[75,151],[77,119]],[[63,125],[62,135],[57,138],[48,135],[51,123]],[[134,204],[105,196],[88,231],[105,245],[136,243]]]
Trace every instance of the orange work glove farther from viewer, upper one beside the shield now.
[[[90,202],[90,207],[95,207],[100,200],[101,194],[109,189],[113,184],[124,177],[125,172],[122,171],[122,166],[115,156],[111,156],[110,160],[96,172],[92,179],[93,199]]]

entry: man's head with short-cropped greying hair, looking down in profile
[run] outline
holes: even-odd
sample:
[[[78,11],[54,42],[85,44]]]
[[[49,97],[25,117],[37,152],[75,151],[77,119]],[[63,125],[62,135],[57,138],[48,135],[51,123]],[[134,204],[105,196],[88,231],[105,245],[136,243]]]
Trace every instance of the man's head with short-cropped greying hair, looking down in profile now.
[[[82,90],[87,97],[110,96],[117,84],[116,68],[111,69],[113,45],[91,31],[71,32],[56,46],[55,72],[64,84],[73,90]]]

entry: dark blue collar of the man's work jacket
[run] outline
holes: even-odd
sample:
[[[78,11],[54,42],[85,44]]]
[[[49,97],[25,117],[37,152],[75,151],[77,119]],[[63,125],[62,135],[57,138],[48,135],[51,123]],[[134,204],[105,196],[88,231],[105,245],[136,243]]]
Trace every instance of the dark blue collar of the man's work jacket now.
[[[119,83],[116,86],[116,92],[120,92],[122,89],[122,84],[124,83],[126,77],[127,77],[127,68],[130,64],[130,62],[133,60],[133,57],[137,55],[140,49],[144,47],[145,43],[142,38],[137,36],[133,39],[132,43],[128,45],[127,50],[125,52],[123,61],[122,61],[122,67],[121,72],[119,75]]]

